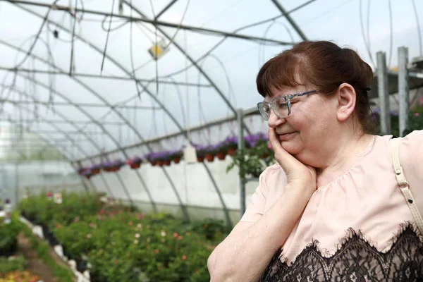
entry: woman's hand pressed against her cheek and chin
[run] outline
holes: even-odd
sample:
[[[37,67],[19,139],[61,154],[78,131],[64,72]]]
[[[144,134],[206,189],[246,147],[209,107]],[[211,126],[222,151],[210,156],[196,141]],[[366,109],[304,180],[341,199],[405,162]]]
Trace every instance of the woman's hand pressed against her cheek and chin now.
[[[278,140],[274,128],[269,128],[269,140],[275,152],[275,159],[286,174],[288,185],[292,185],[293,183],[295,185],[305,185],[314,192],[317,188],[316,169],[312,166],[302,164],[293,155],[286,152]]]

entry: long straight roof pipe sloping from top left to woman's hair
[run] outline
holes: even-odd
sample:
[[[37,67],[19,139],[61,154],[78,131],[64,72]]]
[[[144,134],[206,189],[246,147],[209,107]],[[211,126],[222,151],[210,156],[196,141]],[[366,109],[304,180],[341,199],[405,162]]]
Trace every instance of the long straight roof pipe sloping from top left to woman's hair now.
[[[105,12],[101,12],[101,11],[87,10],[87,9],[81,9],[81,8],[73,8],[73,7],[70,7],[70,6],[59,6],[59,5],[53,5],[52,6],[51,4],[48,4],[48,3],[37,3],[37,2],[22,1],[22,0],[2,0],[2,1],[8,1],[8,2],[11,2],[13,4],[25,4],[25,5],[32,5],[32,6],[41,6],[41,7],[45,7],[45,8],[51,7],[52,10],[57,10],[57,11],[66,11],[66,12],[72,11],[72,13],[80,12],[80,13],[85,13],[85,14],[99,15],[99,16],[112,16],[111,13],[105,13]],[[125,1],[123,1],[123,2],[125,2]],[[236,33],[232,33],[232,32],[225,32],[225,31],[221,31],[221,30],[211,30],[211,29],[203,28],[203,27],[195,27],[195,26],[192,26],[192,25],[178,25],[176,23],[166,23],[166,22],[163,22],[161,20],[149,20],[147,18],[134,18],[134,17],[124,16],[124,15],[119,15],[119,14],[113,14],[113,17],[114,18],[123,18],[125,20],[134,21],[134,22],[151,23],[152,25],[161,25],[161,26],[164,26],[164,27],[175,27],[175,28],[179,28],[181,30],[190,30],[192,32],[208,33],[209,35],[219,35],[219,36],[234,37],[234,38],[239,38],[239,39],[246,39],[246,40],[256,41],[256,42],[259,42],[259,43],[269,42],[269,43],[274,43],[274,44],[279,44],[279,45],[293,45],[293,44],[295,44],[294,42],[285,42],[285,41],[280,41],[280,40],[276,40],[276,39],[255,37],[255,36],[250,36],[250,35],[240,35],[240,34],[236,34]]]

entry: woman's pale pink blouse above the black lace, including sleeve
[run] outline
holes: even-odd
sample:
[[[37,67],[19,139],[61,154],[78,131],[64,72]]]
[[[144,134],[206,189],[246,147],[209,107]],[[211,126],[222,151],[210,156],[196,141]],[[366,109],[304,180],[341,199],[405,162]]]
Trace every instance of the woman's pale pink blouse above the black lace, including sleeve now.
[[[386,253],[406,229],[406,223],[414,222],[396,180],[391,140],[391,135],[375,136],[347,173],[317,188],[278,254],[286,268],[307,246],[314,245],[314,255],[319,252],[321,257],[333,257],[354,236],[376,247],[376,252]],[[399,154],[405,178],[423,214],[423,130],[404,137]],[[281,166],[274,164],[266,168],[241,221],[259,220],[285,186],[286,175]],[[419,234],[417,228],[410,229]],[[423,247],[420,252],[423,254]],[[423,261],[420,263],[417,267],[423,269]]]

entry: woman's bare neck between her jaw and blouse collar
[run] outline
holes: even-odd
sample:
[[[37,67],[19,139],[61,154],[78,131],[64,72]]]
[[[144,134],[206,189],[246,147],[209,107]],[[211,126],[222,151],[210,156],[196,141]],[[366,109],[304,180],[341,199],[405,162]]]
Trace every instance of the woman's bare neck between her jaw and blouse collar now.
[[[325,161],[316,168],[317,187],[321,187],[348,172],[369,145],[372,135],[343,134],[326,148]],[[334,146],[337,144],[337,146]]]

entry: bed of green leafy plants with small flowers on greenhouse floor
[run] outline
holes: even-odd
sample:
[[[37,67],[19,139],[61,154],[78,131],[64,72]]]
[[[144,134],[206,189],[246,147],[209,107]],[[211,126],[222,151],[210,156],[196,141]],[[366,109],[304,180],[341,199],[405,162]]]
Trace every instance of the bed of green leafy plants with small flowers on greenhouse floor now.
[[[186,223],[101,197],[63,192],[63,203],[54,204],[42,194],[19,209],[91,281],[210,281],[207,258],[228,232],[222,221]]]

